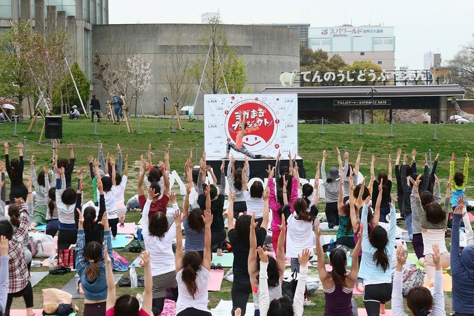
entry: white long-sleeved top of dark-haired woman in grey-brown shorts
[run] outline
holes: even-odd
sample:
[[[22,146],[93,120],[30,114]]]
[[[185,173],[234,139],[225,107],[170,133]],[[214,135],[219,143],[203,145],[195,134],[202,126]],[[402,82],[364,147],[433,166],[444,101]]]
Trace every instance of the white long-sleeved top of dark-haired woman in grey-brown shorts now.
[[[151,199],[147,199],[142,212],[142,234],[145,241],[145,248],[150,253],[151,275],[160,276],[168,272],[175,271],[175,255],[173,254],[173,239],[176,236],[176,225],[170,226],[169,230],[158,238],[149,232],[148,214],[150,212]],[[206,290],[207,291],[207,290]],[[180,293],[181,294],[181,293]],[[207,304],[207,301],[206,301]]]

